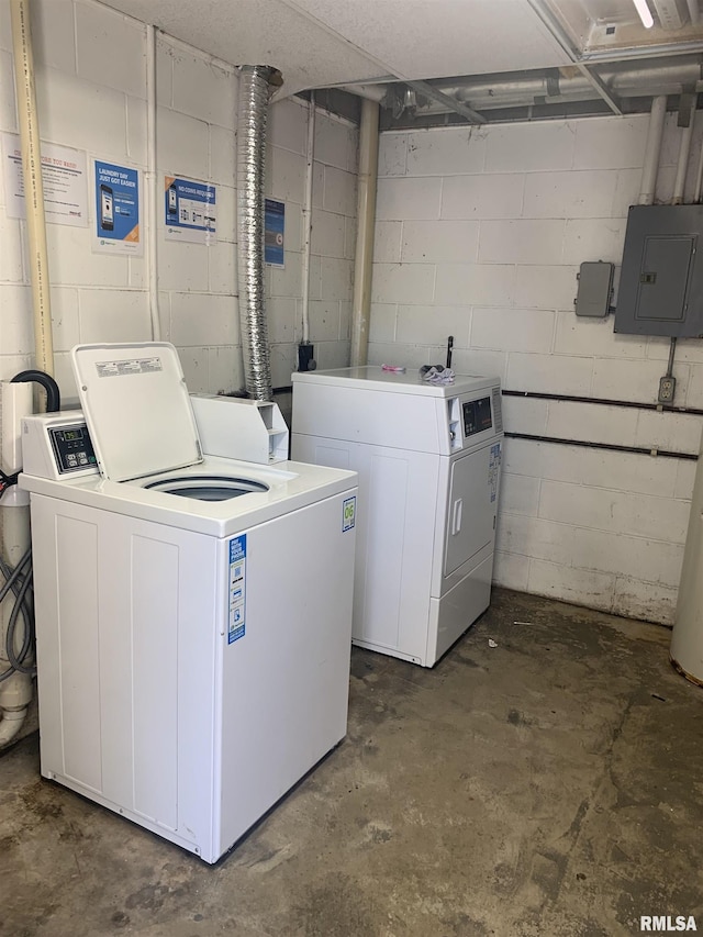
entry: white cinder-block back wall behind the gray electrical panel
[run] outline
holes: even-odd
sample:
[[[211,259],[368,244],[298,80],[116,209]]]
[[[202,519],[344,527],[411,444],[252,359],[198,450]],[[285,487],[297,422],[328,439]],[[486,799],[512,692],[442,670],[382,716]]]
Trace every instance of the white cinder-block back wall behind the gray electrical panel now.
[[[512,390],[652,402],[668,339],[579,320],[583,260],[620,265],[647,116],[381,136],[369,360],[444,361]],[[658,200],[680,131],[667,121]],[[690,176],[701,146],[695,134]],[[688,193],[693,185],[690,180]],[[620,272],[620,269],[618,269]],[[703,345],[679,345],[677,402],[703,406]],[[504,398],[506,430],[698,451],[701,419]],[[496,580],[670,623],[695,466],[506,440]]]

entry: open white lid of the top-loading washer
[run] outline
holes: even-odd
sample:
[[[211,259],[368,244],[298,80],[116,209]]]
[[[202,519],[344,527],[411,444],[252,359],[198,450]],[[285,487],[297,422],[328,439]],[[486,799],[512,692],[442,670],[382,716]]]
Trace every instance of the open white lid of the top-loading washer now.
[[[188,388],[171,344],[77,345],[71,361],[103,478],[130,481],[202,461]]]

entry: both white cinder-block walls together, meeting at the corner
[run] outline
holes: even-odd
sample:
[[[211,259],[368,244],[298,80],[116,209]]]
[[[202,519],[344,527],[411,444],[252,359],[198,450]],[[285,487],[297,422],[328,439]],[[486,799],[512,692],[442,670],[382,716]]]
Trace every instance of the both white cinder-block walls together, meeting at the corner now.
[[[34,0],[42,135],[126,163],[146,161],[145,30],[94,0]],[[16,132],[8,4],[0,4],[0,130]],[[236,74],[158,41],[159,174],[219,187],[220,241],[167,243],[159,220],[164,337],[192,390],[242,386],[235,260]],[[282,270],[267,270],[275,386],[288,384],[302,335],[306,104],[272,105],[267,193],[287,203]],[[509,388],[651,401],[667,342],[577,321],[582,260],[620,261],[637,194],[647,119],[598,119],[383,134],[370,360],[442,360],[498,372]],[[679,131],[669,120],[659,196],[671,192]],[[693,159],[700,147],[700,129]],[[317,114],[311,339],[320,367],[349,354],[356,129]],[[142,180],[143,181],[143,180]],[[0,378],[32,364],[24,224],[0,181]],[[92,213],[92,205],[91,205]],[[91,219],[92,220],[92,219]],[[49,224],[56,370],[75,394],[78,342],[150,337],[145,263],[97,255],[90,230]],[[703,349],[681,343],[678,400],[703,406]],[[505,401],[509,430],[695,451],[695,416]],[[499,582],[670,622],[694,466],[509,440]]]

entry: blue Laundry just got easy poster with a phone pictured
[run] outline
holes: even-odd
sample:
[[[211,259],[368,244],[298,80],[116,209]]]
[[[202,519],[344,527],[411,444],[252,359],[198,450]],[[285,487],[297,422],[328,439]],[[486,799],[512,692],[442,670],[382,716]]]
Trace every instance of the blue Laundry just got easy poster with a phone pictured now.
[[[96,159],[93,249],[104,254],[144,253],[140,236],[140,172]]]

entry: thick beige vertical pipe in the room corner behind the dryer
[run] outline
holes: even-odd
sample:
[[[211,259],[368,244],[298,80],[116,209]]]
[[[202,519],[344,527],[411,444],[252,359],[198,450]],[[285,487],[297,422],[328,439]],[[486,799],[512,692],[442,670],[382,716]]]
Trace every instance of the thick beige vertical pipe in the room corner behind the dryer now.
[[[366,365],[368,359],[376,187],[378,182],[378,103],[365,99],[361,102],[361,125],[359,127],[357,234],[354,261],[354,297],[352,301],[353,367]]]

